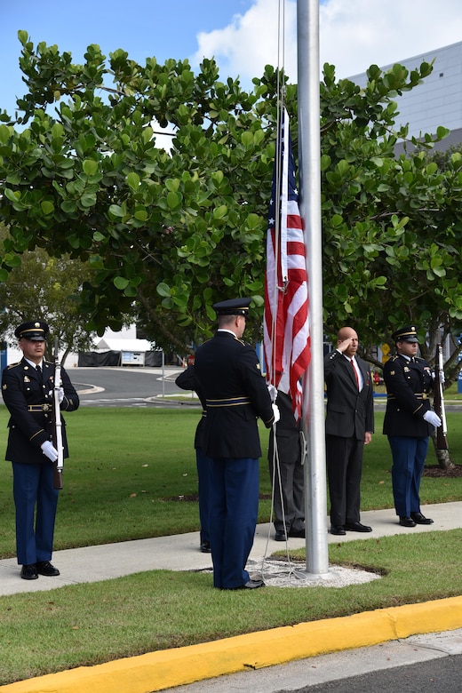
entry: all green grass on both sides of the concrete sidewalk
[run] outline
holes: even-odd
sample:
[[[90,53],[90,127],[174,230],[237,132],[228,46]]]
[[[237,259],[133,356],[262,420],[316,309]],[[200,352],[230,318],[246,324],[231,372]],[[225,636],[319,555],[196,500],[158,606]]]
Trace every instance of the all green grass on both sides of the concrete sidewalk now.
[[[71,458],[63,474],[55,549],[198,530],[193,449],[198,417],[199,411],[190,408],[82,408],[68,414]],[[378,411],[377,433],[365,449],[362,510],[393,506],[391,455],[381,434],[382,420]],[[460,414],[448,413],[450,451],[459,465],[460,420]],[[6,421],[0,407],[4,448]],[[267,437],[262,428],[265,454]],[[433,450],[428,464],[435,464]],[[259,522],[267,522],[270,501],[265,497],[271,487],[266,457],[261,460],[260,493]],[[421,499],[423,504],[462,500],[462,479],[424,477]],[[0,552],[2,558],[14,555],[7,462],[0,474]],[[333,544],[329,554],[333,565],[366,567],[382,578],[342,589],[266,587],[243,594],[212,589],[210,574],[159,570],[0,597],[0,684],[154,649],[460,593],[462,530]],[[304,562],[304,551],[292,555]]]

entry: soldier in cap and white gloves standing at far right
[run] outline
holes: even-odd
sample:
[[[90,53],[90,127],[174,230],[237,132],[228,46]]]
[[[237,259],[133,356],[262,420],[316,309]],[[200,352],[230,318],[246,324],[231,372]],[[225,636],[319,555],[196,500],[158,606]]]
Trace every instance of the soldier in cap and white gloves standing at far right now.
[[[394,355],[384,366],[386,413],[383,432],[393,457],[394,507],[402,527],[432,524],[420,512],[420,479],[426,461],[428,437],[441,419],[430,406],[433,375],[424,359],[418,358],[418,333],[406,325],[393,333]]]

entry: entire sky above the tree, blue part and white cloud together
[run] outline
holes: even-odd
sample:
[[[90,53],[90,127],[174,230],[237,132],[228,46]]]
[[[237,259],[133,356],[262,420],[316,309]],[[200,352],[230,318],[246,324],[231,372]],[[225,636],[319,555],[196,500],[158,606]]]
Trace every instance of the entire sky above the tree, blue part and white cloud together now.
[[[57,44],[81,62],[88,44],[102,51],[123,48],[141,63],[149,56],[188,58],[194,67],[214,56],[221,77],[244,85],[277,64],[278,0],[4,0],[0,7],[0,109],[12,114],[22,95],[19,29],[34,44]],[[296,80],[296,0],[285,0],[284,67]],[[323,0],[320,60],[339,76],[364,72],[462,41],[460,0]]]

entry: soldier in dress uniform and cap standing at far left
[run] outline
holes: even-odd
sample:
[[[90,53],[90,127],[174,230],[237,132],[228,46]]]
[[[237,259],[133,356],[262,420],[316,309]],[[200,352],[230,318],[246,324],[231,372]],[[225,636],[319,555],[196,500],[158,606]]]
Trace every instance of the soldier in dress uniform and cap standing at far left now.
[[[16,554],[22,566],[20,577],[26,580],[60,575],[50,562],[59,491],[53,488],[53,462],[58,458],[52,444],[55,365],[44,360],[48,331],[48,325],[40,320],[21,324],[14,333],[23,358],[5,368],[2,376],[4,403],[11,415],[5,459],[12,462]],[[78,405],[76,390],[61,369],[60,410],[74,411]],[[67,458],[62,417],[61,433],[63,456]]]

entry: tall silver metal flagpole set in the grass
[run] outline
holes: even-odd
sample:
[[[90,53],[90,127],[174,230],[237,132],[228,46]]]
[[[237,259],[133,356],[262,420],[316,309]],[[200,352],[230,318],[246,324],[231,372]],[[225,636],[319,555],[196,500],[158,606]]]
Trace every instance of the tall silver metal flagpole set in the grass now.
[[[304,377],[303,426],[307,572],[328,577],[324,437],[323,254],[319,92],[319,0],[297,2],[300,213],[307,229],[311,362]],[[332,576],[333,577],[333,576]]]

